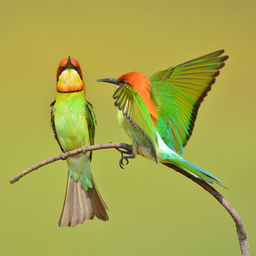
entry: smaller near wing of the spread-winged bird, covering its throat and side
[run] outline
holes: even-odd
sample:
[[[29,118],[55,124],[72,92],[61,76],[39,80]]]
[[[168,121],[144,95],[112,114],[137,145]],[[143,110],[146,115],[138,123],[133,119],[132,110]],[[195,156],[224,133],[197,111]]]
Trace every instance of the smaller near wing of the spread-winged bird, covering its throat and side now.
[[[148,108],[141,96],[130,85],[124,84],[115,91],[113,99],[116,100],[114,105],[119,107],[119,110],[123,112],[135,129],[151,145],[154,152],[154,160],[157,161],[155,153],[157,135]]]

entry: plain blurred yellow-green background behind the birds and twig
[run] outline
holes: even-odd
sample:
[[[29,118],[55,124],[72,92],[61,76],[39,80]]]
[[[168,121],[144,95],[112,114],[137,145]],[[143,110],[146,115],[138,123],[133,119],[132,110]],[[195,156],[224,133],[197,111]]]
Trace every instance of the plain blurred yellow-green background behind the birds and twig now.
[[[183,157],[221,179],[256,253],[255,1],[1,1],[1,255],[240,255],[236,226],[211,195],[166,166],[138,156],[125,170],[114,149],[92,170],[109,209],[74,229],[59,228],[67,183],[49,125],[55,71],[80,62],[97,118],[97,143],[130,143],[116,122],[111,84],[225,49],[230,55],[203,102]]]

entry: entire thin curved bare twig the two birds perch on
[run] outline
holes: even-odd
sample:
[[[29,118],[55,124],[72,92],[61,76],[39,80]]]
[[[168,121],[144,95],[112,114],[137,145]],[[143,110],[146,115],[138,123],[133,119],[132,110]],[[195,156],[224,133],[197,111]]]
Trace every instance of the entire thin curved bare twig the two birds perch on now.
[[[89,147],[83,147],[83,148],[77,148],[72,151],[68,151],[66,153],[62,153],[59,155],[56,155],[54,157],[51,157],[47,160],[44,160],[37,165],[31,166],[28,169],[26,169],[23,172],[20,172],[18,175],[15,177],[12,177],[9,182],[10,183],[15,183],[17,182],[21,177],[24,177],[26,174],[37,170],[38,168],[48,165],[49,163],[53,163],[56,160],[64,160],[68,156],[74,155],[74,154],[80,154],[80,153],[86,153],[88,151],[94,151],[94,150],[99,150],[99,149],[107,149],[107,148],[123,148],[126,150],[126,154],[132,154],[132,148],[131,145],[125,144],[125,143],[107,143],[107,144],[99,144],[99,145],[93,145]],[[247,243],[247,231],[245,229],[244,224],[241,221],[240,216],[236,212],[236,210],[231,207],[230,203],[224,199],[224,197],[218,193],[216,189],[213,189],[212,186],[210,186],[208,183],[202,181],[201,179],[198,179],[196,177],[190,176],[189,173],[184,172],[183,170],[179,169],[177,166],[173,166],[170,164],[165,164],[166,166],[171,167],[175,171],[183,174],[185,177],[189,177],[192,181],[197,183],[198,185],[201,186],[201,188],[206,189],[208,193],[210,193],[213,197],[216,198],[216,200],[227,210],[227,212],[230,213],[230,216],[234,219],[235,224],[236,224],[236,232],[238,236],[238,241],[241,247],[241,255],[242,256],[249,256],[249,246]]]

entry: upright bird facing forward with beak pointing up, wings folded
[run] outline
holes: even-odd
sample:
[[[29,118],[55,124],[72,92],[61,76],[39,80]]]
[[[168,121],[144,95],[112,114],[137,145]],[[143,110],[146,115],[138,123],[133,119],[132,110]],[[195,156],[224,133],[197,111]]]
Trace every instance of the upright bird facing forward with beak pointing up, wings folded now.
[[[88,102],[79,62],[70,56],[57,69],[55,101],[51,103],[51,125],[61,151],[94,144],[96,117]],[[92,153],[67,157],[67,191],[59,226],[74,227],[94,216],[108,220],[107,206],[91,174]]]

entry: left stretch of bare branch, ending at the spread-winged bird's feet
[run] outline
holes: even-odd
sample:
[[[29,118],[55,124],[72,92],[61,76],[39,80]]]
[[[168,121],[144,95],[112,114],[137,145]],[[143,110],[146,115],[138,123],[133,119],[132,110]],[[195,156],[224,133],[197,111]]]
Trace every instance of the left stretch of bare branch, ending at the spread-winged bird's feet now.
[[[42,166],[46,166],[50,163],[53,163],[57,160],[65,160],[68,156],[74,155],[74,154],[80,154],[80,153],[86,153],[88,151],[94,151],[94,150],[99,150],[99,149],[107,149],[107,148],[123,148],[126,150],[126,154],[132,154],[132,147],[131,145],[125,144],[125,143],[107,143],[107,144],[99,144],[99,145],[93,145],[89,147],[82,147],[82,148],[77,148],[72,151],[68,151],[62,154],[58,154],[54,157],[51,157],[47,160],[44,160],[42,162],[39,162],[37,165],[30,166],[28,169],[26,169],[23,172],[20,172],[18,175],[15,177],[12,177],[9,182],[11,184],[17,182],[20,180],[21,177],[24,177],[26,174],[37,170],[38,168]]]

